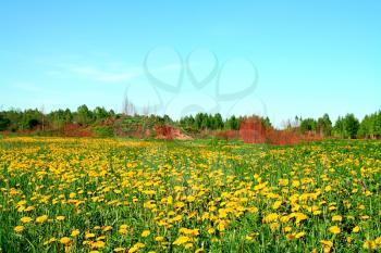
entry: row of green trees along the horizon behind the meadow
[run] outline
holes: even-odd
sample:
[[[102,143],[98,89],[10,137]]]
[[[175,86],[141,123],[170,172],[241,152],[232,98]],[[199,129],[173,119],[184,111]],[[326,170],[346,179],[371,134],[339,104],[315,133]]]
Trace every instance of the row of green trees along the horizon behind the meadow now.
[[[46,130],[60,129],[65,124],[78,124],[81,126],[97,126],[110,118],[123,118],[127,115],[115,113],[113,110],[106,110],[97,106],[89,110],[86,104],[77,107],[72,112],[70,109],[56,110],[50,113],[44,113],[42,110],[8,110],[0,111],[0,131],[23,131],[23,130]],[[142,115],[128,115],[130,117],[145,117]],[[148,117],[148,116],[147,116]],[[238,130],[239,125],[245,121],[246,116],[232,115],[223,118],[220,113],[207,114],[197,113],[173,121],[170,116],[150,115],[155,117],[155,122],[161,124],[175,125],[188,132],[197,132],[200,130]],[[266,127],[272,127],[268,117],[261,118]],[[323,116],[315,119],[311,117],[295,117],[296,125],[291,128],[297,129],[302,134],[315,134],[322,137],[337,138],[381,138],[381,111],[366,115],[362,121],[355,117],[354,114],[340,116],[335,124],[332,123],[330,116]]]

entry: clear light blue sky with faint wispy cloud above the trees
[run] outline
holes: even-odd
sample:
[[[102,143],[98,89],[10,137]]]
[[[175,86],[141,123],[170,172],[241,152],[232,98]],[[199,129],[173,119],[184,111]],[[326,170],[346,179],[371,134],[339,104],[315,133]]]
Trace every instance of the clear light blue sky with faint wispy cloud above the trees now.
[[[121,111],[128,97],[174,117],[361,118],[381,109],[380,13],[376,0],[3,1],[0,106]]]

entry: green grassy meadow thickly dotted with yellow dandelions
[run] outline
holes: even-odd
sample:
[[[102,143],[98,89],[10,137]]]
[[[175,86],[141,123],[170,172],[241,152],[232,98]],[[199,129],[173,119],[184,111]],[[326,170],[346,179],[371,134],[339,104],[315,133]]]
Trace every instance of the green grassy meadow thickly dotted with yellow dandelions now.
[[[0,139],[0,252],[371,252],[381,142]]]

